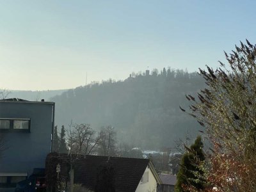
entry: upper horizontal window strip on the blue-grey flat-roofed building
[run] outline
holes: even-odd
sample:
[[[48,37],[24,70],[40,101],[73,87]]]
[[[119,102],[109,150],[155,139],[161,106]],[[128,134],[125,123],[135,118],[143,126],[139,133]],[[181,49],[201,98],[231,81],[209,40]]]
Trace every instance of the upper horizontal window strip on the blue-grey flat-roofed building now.
[[[30,118],[0,118],[0,132],[30,132]]]

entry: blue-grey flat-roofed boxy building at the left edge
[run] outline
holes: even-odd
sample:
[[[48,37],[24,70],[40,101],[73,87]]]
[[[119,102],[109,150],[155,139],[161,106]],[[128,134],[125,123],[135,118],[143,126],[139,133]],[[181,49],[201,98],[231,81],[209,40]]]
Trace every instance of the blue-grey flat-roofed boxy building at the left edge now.
[[[0,191],[15,188],[34,168],[45,168],[53,127],[54,102],[0,100],[0,134],[6,148],[0,157]]]

